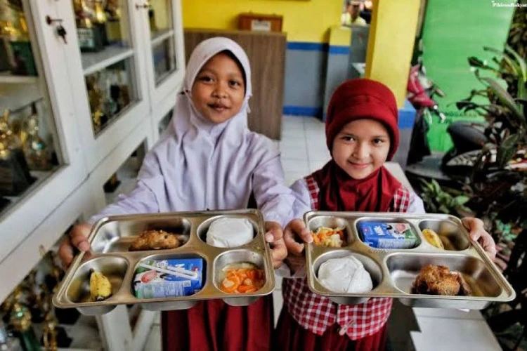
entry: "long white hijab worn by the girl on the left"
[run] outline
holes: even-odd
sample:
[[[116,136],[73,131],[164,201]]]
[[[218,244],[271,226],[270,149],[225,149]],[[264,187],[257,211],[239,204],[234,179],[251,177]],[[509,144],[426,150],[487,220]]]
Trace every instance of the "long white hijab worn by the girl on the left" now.
[[[238,114],[213,124],[197,112],[190,93],[203,65],[225,50],[233,53],[245,70],[245,100]],[[139,173],[140,182],[155,194],[160,212],[247,207],[254,169],[278,156],[266,137],[247,128],[251,95],[249,60],[235,41],[212,38],[195,48],[171,128],[145,157]]]

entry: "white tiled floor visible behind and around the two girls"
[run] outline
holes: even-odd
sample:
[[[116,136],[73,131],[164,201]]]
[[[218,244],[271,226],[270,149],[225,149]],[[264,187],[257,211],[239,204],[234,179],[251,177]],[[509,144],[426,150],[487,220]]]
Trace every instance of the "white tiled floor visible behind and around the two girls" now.
[[[282,165],[288,185],[322,167],[330,153],[325,145],[324,124],[307,117],[284,117],[282,140],[275,142],[280,147]],[[389,170],[394,176],[403,176],[400,167]],[[273,293],[275,320],[282,308],[280,278]],[[411,319],[411,322],[410,322]],[[418,331],[417,329],[420,329]],[[417,331],[416,331],[417,330]],[[389,324],[391,350],[500,350],[488,325],[478,311],[438,310],[427,308],[410,309],[401,304],[391,315]],[[145,345],[145,351],[160,351],[159,320]]]

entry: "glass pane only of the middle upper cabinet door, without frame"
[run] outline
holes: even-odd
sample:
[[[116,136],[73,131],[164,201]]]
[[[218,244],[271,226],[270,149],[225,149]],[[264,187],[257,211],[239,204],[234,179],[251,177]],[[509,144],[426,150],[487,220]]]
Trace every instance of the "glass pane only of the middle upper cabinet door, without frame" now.
[[[72,0],[93,134],[138,101],[125,0]]]

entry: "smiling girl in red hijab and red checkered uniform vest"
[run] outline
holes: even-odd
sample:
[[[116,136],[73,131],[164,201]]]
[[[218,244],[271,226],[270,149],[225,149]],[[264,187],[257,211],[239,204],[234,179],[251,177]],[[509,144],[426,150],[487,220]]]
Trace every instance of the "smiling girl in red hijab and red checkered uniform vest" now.
[[[292,185],[295,218],[306,211],[424,213],[422,200],[384,168],[397,150],[398,110],[390,89],[370,79],[353,79],[334,91],[327,109],[326,141],[332,159]],[[483,222],[464,218],[471,238],[495,255]],[[391,298],[337,305],[312,293],[304,270],[304,244],[313,239],[302,220],[285,229],[291,270],[283,281],[284,308],[277,326],[279,350],[384,350]],[[289,272],[288,272],[289,273]],[[288,275],[287,273],[285,275]]]

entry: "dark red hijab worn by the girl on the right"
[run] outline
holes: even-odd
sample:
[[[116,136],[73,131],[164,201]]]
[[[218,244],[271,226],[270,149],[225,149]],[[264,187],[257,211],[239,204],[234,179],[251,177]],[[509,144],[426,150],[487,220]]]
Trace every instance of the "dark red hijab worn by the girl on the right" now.
[[[390,89],[370,79],[351,79],[337,87],[327,107],[326,140],[330,152],[339,131],[357,119],[375,119],[386,126],[390,134],[390,160],[399,142],[397,103]],[[386,212],[401,187],[384,166],[357,180],[333,159],[313,173],[313,178],[320,188],[320,211]]]

